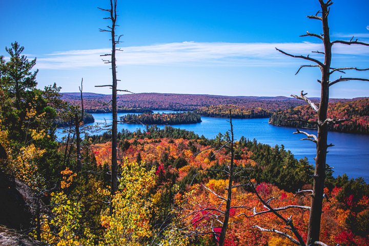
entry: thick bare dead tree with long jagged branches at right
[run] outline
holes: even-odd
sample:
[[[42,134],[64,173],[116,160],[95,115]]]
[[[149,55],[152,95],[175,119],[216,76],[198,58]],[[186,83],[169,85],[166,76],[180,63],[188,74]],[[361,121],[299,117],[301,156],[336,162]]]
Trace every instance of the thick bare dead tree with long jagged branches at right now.
[[[356,67],[340,67],[340,68],[332,68],[332,46],[335,44],[343,44],[343,45],[364,45],[369,46],[369,44],[358,42],[358,40],[354,40],[354,37],[351,38],[350,41],[343,40],[335,40],[331,41],[329,25],[328,25],[328,16],[330,13],[330,6],[333,4],[332,0],[324,2],[323,0],[318,0],[321,10],[319,10],[315,15],[307,16],[309,19],[317,19],[322,24],[323,33],[316,34],[310,33],[309,31],[306,34],[301,36],[311,36],[318,38],[324,46],[324,51],[313,51],[313,53],[321,54],[324,56],[324,60],[312,58],[309,55],[293,55],[286,53],[282,50],[277,49],[282,54],[294,57],[301,58],[304,60],[311,61],[314,63],[313,65],[302,65],[296,74],[300,72],[300,70],[304,67],[317,67],[321,71],[321,79],[318,79],[318,83],[320,84],[320,104],[314,104],[308,97],[306,97],[306,93],[301,91],[300,95],[292,95],[297,99],[304,100],[310,107],[316,112],[318,120],[314,122],[318,127],[317,136],[314,134],[309,134],[307,132],[297,130],[294,134],[303,134],[306,137],[302,138],[303,140],[310,140],[315,142],[316,144],[316,157],[315,157],[315,173],[314,173],[314,185],[313,192],[311,196],[311,209],[310,209],[310,218],[309,218],[309,231],[308,238],[306,244],[317,244],[319,241],[320,234],[320,220],[322,213],[322,201],[323,201],[323,189],[324,189],[324,181],[325,181],[325,165],[326,165],[326,153],[327,148],[332,147],[333,145],[327,144],[327,134],[328,134],[328,125],[329,124],[338,124],[340,122],[346,121],[347,119],[330,119],[327,118],[327,109],[329,102],[329,89],[331,86],[341,82],[341,81],[349,81],[349,80],[362,80],[369,81],[366,78],[356,78],[356,77],[339,77],[335,80],[331,80],[331,75],[335,72],[345,74],[347,70],[356,70],[356,71],[364,71],[369,69],[358,69]],[[321,245],[321,244],[320,244]]]

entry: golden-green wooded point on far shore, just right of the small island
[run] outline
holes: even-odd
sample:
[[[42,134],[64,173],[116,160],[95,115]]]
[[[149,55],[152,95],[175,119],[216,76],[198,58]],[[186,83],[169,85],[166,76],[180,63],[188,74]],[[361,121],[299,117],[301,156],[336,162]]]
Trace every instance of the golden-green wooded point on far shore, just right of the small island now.
[[[271,111],[262,108],[246,108],[236,105],[217,105],[209,107],[201,107],[196,109],[196,113],[208,117],[228,118],[229,110],[232,110],[233,118],[252,119],[267,118],[271,116]]]

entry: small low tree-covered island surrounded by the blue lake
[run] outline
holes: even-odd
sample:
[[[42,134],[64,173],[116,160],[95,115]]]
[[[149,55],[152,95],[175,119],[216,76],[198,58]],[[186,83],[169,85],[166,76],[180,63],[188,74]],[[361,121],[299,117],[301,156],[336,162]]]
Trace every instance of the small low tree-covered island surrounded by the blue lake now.
[[[195,124],[201,122],[201,116],[193,112],[179,113],[143,113],[143,114],[127,114],[121,116],[120,120],[130,124],[145,125],[180,125]]]

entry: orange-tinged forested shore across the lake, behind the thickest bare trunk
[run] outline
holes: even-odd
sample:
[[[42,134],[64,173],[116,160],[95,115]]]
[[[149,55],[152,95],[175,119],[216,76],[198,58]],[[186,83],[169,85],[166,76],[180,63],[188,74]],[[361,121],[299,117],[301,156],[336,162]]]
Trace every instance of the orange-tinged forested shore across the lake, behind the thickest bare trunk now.
[[[369,99],[329,104],[328,117],[348,119],[344,122],[332,122],[330,131],[369,134]],[[276,126],[316,129],[316,118],[309,106],[299,106],[293,109],[279,110],[272,114],[269,122]]]

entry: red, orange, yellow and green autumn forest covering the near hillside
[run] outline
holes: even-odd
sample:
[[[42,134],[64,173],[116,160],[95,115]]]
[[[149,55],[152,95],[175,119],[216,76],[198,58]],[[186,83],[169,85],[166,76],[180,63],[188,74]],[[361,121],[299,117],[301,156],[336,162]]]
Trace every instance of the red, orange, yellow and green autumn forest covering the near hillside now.
[[[80,124],[81,108],[61,100],[56,85],[36,89],[37,71],[30,71],[35,60],[22,55],[23,49],[14,43],[7,50],[10,60],[1,57],[0,182],[11,188],[0,190],[6,197],[0,207],[4,226],[55,245],[216,245],[232,161],[238,171],[232,176],[225,245],[292,245],[260,231],[285,230],[284,222],[265,210],[268,206],[296,218],[294,228],[306,236],[311,163],[295,159],[283,146],[244,137],[232,141],[229,131],[214,139],[172,127],[120,132],[119,186],[110,196],[111,133],[89,136],[85,131],[82,139],[70,128],[66,141],[57,142],[55,120],[77,118]],[[19,80],[14,73],[22,74]],[[331,105],[344,117],[364,106],[367,99]],[[155,120],[186,115],[199,119],[188,112],[159,114]],[[224,148],[230,142],[233,148]],[[362,178],[334,178],[326,170],[321,240],[368,244],[369,186]],[[24,205],[17,205],[19,200]]]

